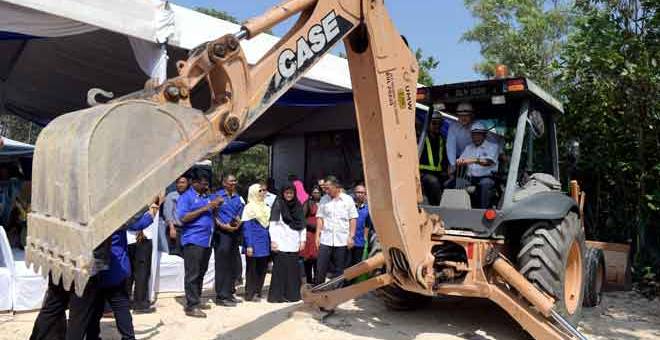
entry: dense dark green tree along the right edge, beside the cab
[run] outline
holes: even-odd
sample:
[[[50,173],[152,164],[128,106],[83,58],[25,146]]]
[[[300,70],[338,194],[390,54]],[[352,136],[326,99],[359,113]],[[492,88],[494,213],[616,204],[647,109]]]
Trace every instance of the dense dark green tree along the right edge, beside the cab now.
[[[658,1],[579,1],[558,78],[563,140],[581,144],[594,236],[632,239],[660,265],[660,16]]]

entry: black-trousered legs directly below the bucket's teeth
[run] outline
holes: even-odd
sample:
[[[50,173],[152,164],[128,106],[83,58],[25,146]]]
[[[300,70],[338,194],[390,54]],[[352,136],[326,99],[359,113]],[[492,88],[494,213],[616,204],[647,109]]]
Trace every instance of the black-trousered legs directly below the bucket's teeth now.
[[[94,315],[97,294],[96,277],[89,279],[82,297],[64,289],[62,281],[55,284],[52,277],[49,277],[46,297],[34,322],[30,340],[83,340]],[[69,308],[68,324],[65,314],[67,307]]]

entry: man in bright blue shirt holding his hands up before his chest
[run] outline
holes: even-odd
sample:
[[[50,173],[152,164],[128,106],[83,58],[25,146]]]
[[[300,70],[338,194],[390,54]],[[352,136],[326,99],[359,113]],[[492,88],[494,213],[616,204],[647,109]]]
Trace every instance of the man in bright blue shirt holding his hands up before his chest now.
[[[221,197],[209,195],[209,174],[203,169],[192,172],[192,187],[176,203],[177,218],[181,221],[181,245],[185,270],[186,315],[205,318],[201,304],[204,274],[211,257],[211,235],[215,223],[213,216],[222,204]]]

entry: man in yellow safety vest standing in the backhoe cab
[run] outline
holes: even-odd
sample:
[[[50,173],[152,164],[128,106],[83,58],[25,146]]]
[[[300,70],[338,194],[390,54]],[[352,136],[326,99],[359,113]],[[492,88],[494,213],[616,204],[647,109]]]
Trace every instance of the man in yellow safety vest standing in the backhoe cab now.
[[[440,133],[442,115],[433,113],[429,122],[428,134],[424,140],[422,156],[419,159],[419,172],[422,180],[422,191],[430,205],[440,204],[442,184],[446,177],[445,141]]]

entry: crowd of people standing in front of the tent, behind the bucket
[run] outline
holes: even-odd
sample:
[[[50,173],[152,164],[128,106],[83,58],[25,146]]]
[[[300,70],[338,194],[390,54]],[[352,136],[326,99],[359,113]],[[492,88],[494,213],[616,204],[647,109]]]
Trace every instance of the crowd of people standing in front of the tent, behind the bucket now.
[[[202,296],[212,254],[213,302],[223,307],[259,302],[263,294],[269,303],[299,301],[304,282],[324,283],[367,256],[373,226],[363,184],[344,188],[328,176],[308,194],[302,181],[291,177],[277,191],[266,182],[250,185],[246,202],[237,191],[236,176],[222,176],[217,191],[210,183],[210,172],[193,168],[175,181],[176,190],[155,197],[119,228],[94,251],[96,263],[82,296],[49,276],[31,339],[100,339],[100,320],[109,310],[122,339],[134,339],[132,313],[155,311],[148,282],[151,239],[157,232],[166,235],[170,254],[183,257],[184,313],[189,317],[206,317],[204,310],[212,308]],[[161,230],[153,223],[159,211]],[[242,256],[245,285],[239,297]]]

